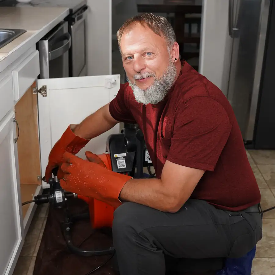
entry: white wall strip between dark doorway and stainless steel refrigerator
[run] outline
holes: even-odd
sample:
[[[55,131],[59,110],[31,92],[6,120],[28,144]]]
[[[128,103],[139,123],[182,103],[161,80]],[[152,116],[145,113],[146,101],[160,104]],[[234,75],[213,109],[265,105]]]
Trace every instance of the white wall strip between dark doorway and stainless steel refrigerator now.
[[[232,39],[228,34],[229,0],[204,0],[199,71],[227,95]]]

